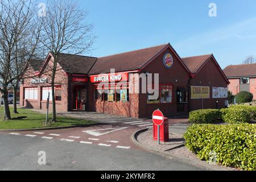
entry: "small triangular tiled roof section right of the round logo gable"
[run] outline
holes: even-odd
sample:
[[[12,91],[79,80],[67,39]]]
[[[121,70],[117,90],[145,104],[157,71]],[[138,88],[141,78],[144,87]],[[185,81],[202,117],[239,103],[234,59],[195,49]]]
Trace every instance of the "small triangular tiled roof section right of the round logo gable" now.
[[[189,71],[192,74],[195,74],[204,65],[204,63],[210,58],[210,56],[212,55],[183,57],[181,58],[181,60],[183,61],[185,66],[189,69]]]

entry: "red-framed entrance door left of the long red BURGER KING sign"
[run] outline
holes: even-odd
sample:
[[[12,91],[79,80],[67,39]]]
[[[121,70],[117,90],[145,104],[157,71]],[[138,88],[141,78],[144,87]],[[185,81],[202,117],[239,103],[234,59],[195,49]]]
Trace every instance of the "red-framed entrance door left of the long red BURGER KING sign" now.
[[[85,110],[86,89],[73,88],[73,110]]]

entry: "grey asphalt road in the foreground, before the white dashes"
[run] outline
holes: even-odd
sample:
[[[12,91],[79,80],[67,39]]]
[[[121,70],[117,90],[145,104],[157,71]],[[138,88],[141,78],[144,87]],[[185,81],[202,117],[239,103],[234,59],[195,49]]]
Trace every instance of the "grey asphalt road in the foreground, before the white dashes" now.
[[[39,151],[46,165],[39,165]],[[175,159],[130,148],[0,134],[0,170],[203,170]]]

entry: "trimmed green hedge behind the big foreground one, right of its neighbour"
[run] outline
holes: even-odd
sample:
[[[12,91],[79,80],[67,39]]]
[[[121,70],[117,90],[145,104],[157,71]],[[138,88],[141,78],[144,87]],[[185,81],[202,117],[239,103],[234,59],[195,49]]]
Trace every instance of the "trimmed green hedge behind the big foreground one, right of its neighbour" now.
[[[221,109],[221,118],[226,123],[246,123],[250,122],[251,113],[237,108]]]

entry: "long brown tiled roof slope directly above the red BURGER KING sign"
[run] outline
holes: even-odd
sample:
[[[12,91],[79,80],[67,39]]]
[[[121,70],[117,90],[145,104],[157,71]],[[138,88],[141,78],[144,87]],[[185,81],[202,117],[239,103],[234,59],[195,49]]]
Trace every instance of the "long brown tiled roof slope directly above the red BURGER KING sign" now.
[[[119,53],[112,56],[99,57],[90,70],[89,75],[109,73],[112,68],[115,68],[115,72],[140,69],[147,61],[150,61],[152,57],[163,51],[167,46],[169,46],[169,44]]]

